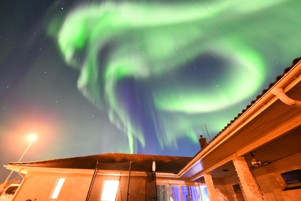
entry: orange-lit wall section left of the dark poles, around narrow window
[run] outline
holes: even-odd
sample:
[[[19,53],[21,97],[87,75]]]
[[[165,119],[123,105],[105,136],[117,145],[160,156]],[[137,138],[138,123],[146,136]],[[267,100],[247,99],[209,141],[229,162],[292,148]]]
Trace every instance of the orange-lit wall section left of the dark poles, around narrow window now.
[[[86,199],[92,174],[60,174],[29,171],[25,175],[26,181],[20,188],[15,201],[24,201],[27,199],[49,200],[58,177],[64,177],[65,181],[57,201],[82,201]]]

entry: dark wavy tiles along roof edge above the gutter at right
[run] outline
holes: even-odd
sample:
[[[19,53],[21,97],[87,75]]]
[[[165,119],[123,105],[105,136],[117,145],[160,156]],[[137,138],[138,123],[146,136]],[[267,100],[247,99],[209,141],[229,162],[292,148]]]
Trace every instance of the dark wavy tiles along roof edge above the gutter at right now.
[[[216,136],[214,136],[212,138],[212,140],[210,140],[199,152],[197,152],[194,157],[196,157],[200,152],[202,152],[210,143],[212,143],[217,137],[219,137],[220,134],[222,134],[222,132],[224,132],[231,124],[234,123],[234,121],[236,121],[242,114],[244,114],[253,104],[256,103],[256,101],[258,99],[260,99],[265,93],[268,92],[268,90],[270,90],[272,88],[272,86],[274,86],[285,74],[288,73],[288,71],[290,71],[290,69],[292,69],[299,61],[301,60],[301,57],[299,58],[295,58],[292,62],[292,65],[290,67],[287,67],[284,69],[283,74],[279,75],[276,77],[275,82],[272,82],[268,85],[268,88],[262,90],[262,93],[259,94],[258,96],[256,96],[256,99],[252,100],[250,105],[247,105],[247,107],[245,109],[243,109],[239,114],[237,114],[236,117],[234,117],[233,120],[230,121],[230,123],[227,124],[227,126],[225,126],[221,131],[219,131],[219,133],[216,134]],[[193,157],[193,158],[194,158]]]

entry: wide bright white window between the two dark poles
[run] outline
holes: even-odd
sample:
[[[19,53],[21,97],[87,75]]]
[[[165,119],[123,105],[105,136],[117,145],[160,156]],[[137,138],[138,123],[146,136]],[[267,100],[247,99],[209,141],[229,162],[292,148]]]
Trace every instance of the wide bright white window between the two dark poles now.
[[[101,201],[115,201],[119,181],[105,180],[102,189]]]

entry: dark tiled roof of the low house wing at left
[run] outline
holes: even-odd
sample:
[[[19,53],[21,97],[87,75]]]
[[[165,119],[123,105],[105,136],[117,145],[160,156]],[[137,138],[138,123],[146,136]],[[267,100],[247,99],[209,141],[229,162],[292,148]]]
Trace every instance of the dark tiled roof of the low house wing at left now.
[[[156,172],[177,174],[192,157],[106,153],[66,159],[53,159],[36,162],[9,162],[9,165],[23,165],[42,168],[95,169],[98,161],[100,170],[128,171],[132,159],[132,171],[152,171],[153,161]]]

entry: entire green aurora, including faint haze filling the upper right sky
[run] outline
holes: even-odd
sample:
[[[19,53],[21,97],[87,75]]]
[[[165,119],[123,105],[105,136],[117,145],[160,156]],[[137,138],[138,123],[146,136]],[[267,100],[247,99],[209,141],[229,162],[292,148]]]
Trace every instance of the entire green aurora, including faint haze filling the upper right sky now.
[[[197,143],[203,123],[221,130],[243,109],[235,105],[265,87],[272,70],[267,60],[278,59],[270,51],[281,49],[286,61],[298,56],[300,15],[291,11],[298,5],[288,0],[106,1],[78,6],[55,37],[66,63],[80,71],[78,89],[126,133],[130,152],[138,143],[146,146],[145,130],[117,88],[127,79],[150,86],[147,115],[163,149],[177,147],[182,138]],[[183,71],[196,59],[203,74],[186,79]],[[218,70],[207,79],[204,72],[214,65]]]

